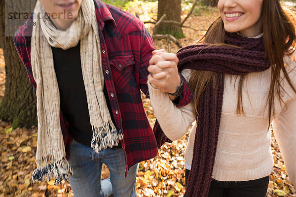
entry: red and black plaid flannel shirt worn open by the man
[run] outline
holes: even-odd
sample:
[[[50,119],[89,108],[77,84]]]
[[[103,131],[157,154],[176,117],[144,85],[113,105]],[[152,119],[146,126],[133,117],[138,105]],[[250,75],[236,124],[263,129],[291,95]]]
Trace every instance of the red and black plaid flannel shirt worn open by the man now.
[[[148,92],[148,62],[154,50],[153,40],[137,17],[117,7],[94,0],[99,26],[102,66],[111,102],[115,125],[122,130],[121,141],[126,155],[126,168],[151,159],[157,154],[157,142],[141,99],[142,90]],[[28,72],[36,92],[36,82],[31,67],[32,16],[20,26],[14,36],[17,52]],[[185,85],[183,99],[178,106],[185,106],[192,99]],[[67,158],[72,141],[67,128],[69,123],[62,113],[61,129]]]

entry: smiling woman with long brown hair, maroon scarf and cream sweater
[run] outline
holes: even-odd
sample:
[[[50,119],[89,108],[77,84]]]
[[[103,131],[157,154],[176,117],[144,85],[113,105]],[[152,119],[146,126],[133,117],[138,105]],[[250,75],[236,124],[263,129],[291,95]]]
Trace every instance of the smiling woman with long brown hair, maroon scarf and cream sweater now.
[[[161,50],[148,68],[151,104],[171,140],[196,120],[185,150],[185,197],[265,197],[270,123],[296,184],[296,25],[279,0],[219,0],[218,8],[202,41],[177,53],[194,100],[171,103],[163,79],[178,61]]]

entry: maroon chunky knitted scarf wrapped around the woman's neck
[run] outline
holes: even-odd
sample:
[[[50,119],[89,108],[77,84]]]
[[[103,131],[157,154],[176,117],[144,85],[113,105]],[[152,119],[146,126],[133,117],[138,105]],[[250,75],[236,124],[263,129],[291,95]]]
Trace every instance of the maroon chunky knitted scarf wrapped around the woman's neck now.
[[[177,53],[180,72],[189,68],[215,71],[221,76],[215,90],[213,84],[207,85],[198,103],[193,159],[184,197],[207,197],[209,193],[220,128],[224,74],[244,75],[269,68],[263,37],[227,33],[225,43],[241,48],[198,44],[186,46]],[[156,130],[160,130],[158,125]],[[164,142],[163,136],[156,138]]]

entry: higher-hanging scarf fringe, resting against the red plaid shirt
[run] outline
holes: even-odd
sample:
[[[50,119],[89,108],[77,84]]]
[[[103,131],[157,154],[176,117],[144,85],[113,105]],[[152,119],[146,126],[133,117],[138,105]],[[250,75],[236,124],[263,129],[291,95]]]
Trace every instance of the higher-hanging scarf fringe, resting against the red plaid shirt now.
[[[91,148],[96,153],[99,153],[101,150],[117,146],[122,139],[122,132],[117,131],[116,128],[108,122],[104,123],[102,128],[93,126]]]

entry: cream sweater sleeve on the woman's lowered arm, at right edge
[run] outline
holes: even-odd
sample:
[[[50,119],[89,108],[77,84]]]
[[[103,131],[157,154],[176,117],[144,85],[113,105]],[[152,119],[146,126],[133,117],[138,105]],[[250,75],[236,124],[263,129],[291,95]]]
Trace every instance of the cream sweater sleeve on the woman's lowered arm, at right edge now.
[[[287,110],[274,118],[272,126],[289,177],[296,186],[296,100],[287,103]]]

